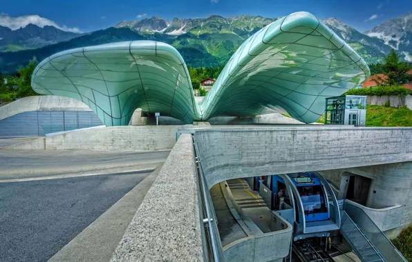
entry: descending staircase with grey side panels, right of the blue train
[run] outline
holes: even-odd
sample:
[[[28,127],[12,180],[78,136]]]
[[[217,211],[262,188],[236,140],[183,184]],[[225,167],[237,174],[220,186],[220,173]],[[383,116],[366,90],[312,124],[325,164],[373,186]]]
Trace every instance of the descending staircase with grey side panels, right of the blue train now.
[[[344,210],[341,210],[340,232],[364,262],[406,262],[364,210],[350,201],[345,201]]]

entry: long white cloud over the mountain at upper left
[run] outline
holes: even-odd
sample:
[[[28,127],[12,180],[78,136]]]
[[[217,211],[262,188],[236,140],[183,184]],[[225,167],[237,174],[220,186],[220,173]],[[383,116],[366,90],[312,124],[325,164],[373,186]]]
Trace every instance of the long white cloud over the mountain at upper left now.
[[[6,26],[11,30],[25,28],[29,23],[44,28],[44,26],[54,26],[66,32],[81,33],[79,28],[69,28],[68,26],[58,26],[57,23],[50,19],[39,17],[37,14],[24,15],[21,17],[10,17],[8,14],[0,13],[0,26]]]

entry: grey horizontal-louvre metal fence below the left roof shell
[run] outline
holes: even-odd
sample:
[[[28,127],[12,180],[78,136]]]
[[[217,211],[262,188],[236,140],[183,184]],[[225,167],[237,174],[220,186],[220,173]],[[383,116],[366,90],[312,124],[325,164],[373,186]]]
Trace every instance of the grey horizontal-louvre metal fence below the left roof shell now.
[[[0,120],[0,137],[42,137],[48,133],[103,125],[93,111],[31,111]]]

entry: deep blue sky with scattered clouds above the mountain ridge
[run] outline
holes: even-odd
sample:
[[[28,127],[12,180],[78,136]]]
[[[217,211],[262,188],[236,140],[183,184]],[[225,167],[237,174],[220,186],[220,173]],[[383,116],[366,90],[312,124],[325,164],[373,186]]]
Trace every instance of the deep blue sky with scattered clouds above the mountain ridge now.
[[[71,32],[109,28],[120,21],[150,17],[205,18],[211,14],[282,17],[307,11],[335,17],[364,32],[383,21],[412,12],[411,0],[3,0],[0,25],[16,30],[27,23],[52,25]]]

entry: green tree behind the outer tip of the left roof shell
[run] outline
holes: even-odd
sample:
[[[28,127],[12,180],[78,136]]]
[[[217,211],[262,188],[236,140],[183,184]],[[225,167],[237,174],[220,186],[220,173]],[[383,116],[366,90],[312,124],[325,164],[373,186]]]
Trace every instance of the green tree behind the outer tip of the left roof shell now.
[[[37,66],[37,59],[33,57],[26,67],[19,68],[16,76],[8,78],[8,85],[17,90],[16,97],[29,97],[38,95],[31,86],[32,73]]]

